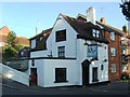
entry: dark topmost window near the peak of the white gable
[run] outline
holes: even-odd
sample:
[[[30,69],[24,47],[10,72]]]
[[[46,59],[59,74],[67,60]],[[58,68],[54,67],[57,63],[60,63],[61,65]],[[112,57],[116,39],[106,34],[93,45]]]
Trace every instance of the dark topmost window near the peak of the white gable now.
[[[66,41],[66,29],[55,32],[55,41]]]

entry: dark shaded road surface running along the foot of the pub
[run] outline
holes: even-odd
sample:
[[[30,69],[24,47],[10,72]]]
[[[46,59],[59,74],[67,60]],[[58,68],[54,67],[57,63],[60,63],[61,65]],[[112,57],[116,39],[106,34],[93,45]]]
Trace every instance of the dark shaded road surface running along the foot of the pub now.
[[[2,95],[128,95],[130,84],[128,82],[112,82],[104,85],[67,86],[67,87],[40,87],[26,86],[12,80],[4,80]]]

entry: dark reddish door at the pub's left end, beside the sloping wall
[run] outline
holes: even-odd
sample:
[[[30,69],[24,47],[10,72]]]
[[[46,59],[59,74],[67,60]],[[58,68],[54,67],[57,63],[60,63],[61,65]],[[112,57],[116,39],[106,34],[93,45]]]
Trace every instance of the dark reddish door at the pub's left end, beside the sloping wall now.
[[[37,68],[30,68],[30,85],[37,85]]]

